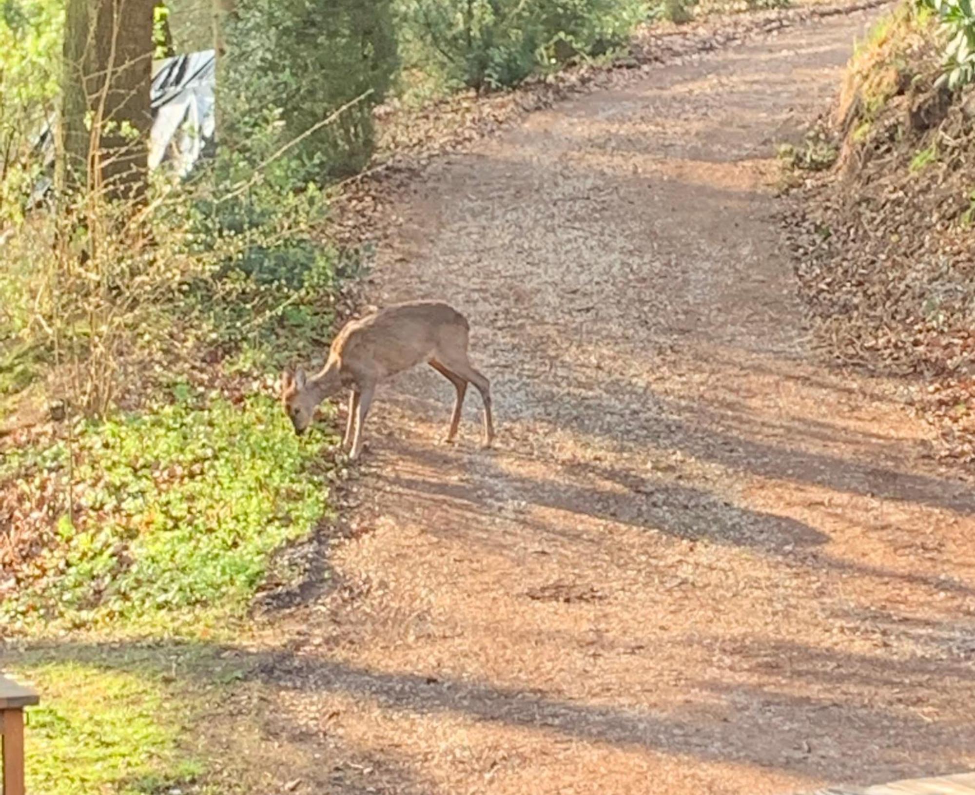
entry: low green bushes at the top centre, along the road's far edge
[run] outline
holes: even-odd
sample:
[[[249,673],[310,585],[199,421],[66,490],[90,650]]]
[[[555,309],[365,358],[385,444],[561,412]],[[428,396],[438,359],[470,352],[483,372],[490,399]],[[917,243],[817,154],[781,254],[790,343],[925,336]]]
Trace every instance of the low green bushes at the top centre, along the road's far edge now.
[[[643,0],[403,0],[400,19],[432,65],[480,91],[604,55],[625,44],[646,11]]]

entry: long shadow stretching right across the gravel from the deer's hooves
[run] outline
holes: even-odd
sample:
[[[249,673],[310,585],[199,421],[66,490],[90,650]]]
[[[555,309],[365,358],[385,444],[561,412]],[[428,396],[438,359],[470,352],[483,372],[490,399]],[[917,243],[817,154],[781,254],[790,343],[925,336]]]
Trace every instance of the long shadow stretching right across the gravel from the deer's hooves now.
[[[531,535],[539,542],[557,537],[597,550],[600,537],[589,532],[591,523],[618,522],[688,541],[752,549],[788,566],[916,586],[931,591],[931,596],[942,591],[975,595],[975,587],[955,579],[836,557],[820,549],[830,539],[815,527],[788,516],[741,508],[653,474],[591,463],[553,464],[552,476],[541,480],[503,469],[486,458],[477,473],[453,481],[440,474],[458,466],[452,452],[394,438],[384,439],[384,444],[390,446],[390,455],[412,464],[396,472],[373,473],[384,511],[402,526],[461,536],[495,553],[517,554],[513,535],[521,539]],[[532,515],[533,507],[563,511],[565,520],[541,521]],[[445,521],[427,521],[430,511]],[[590,526],[582,527],[580,522]]]

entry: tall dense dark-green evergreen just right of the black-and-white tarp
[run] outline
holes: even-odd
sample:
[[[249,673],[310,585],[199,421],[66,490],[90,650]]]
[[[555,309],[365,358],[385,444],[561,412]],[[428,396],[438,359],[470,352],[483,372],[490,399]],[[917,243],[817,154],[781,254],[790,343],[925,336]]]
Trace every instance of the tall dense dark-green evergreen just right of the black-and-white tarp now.
[[[297,187],[361,170],[373,148],[371,109],[398,65],[390,3],[241,0],[217,82],[223,145],[262,159],[304,136],[289,151],[289,167],[276,169]]]

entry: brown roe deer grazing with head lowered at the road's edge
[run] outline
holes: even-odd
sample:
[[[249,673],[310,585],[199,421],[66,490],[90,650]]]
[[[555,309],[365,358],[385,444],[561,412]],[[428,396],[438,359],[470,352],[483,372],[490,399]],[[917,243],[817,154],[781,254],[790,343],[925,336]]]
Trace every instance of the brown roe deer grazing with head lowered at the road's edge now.
[[[287,370],[282,376],[281,398],[294,433],[304,433],[322,400],[348,387],[349,417],[342,447],[352,443],[349,458],[355,461],[362,452],[363,423],[376,384],[425,361],[457,391],[446,441],[453,441],[457,435],[470,382],[484,400],[485,447],[489,447],[494,438],[490,385],[467,359],[469,329],[463,315],[440,301],[395,304],[347,322],[332,341],[329,360],[319,373],[306,377],[299,368],[293,377]]]

